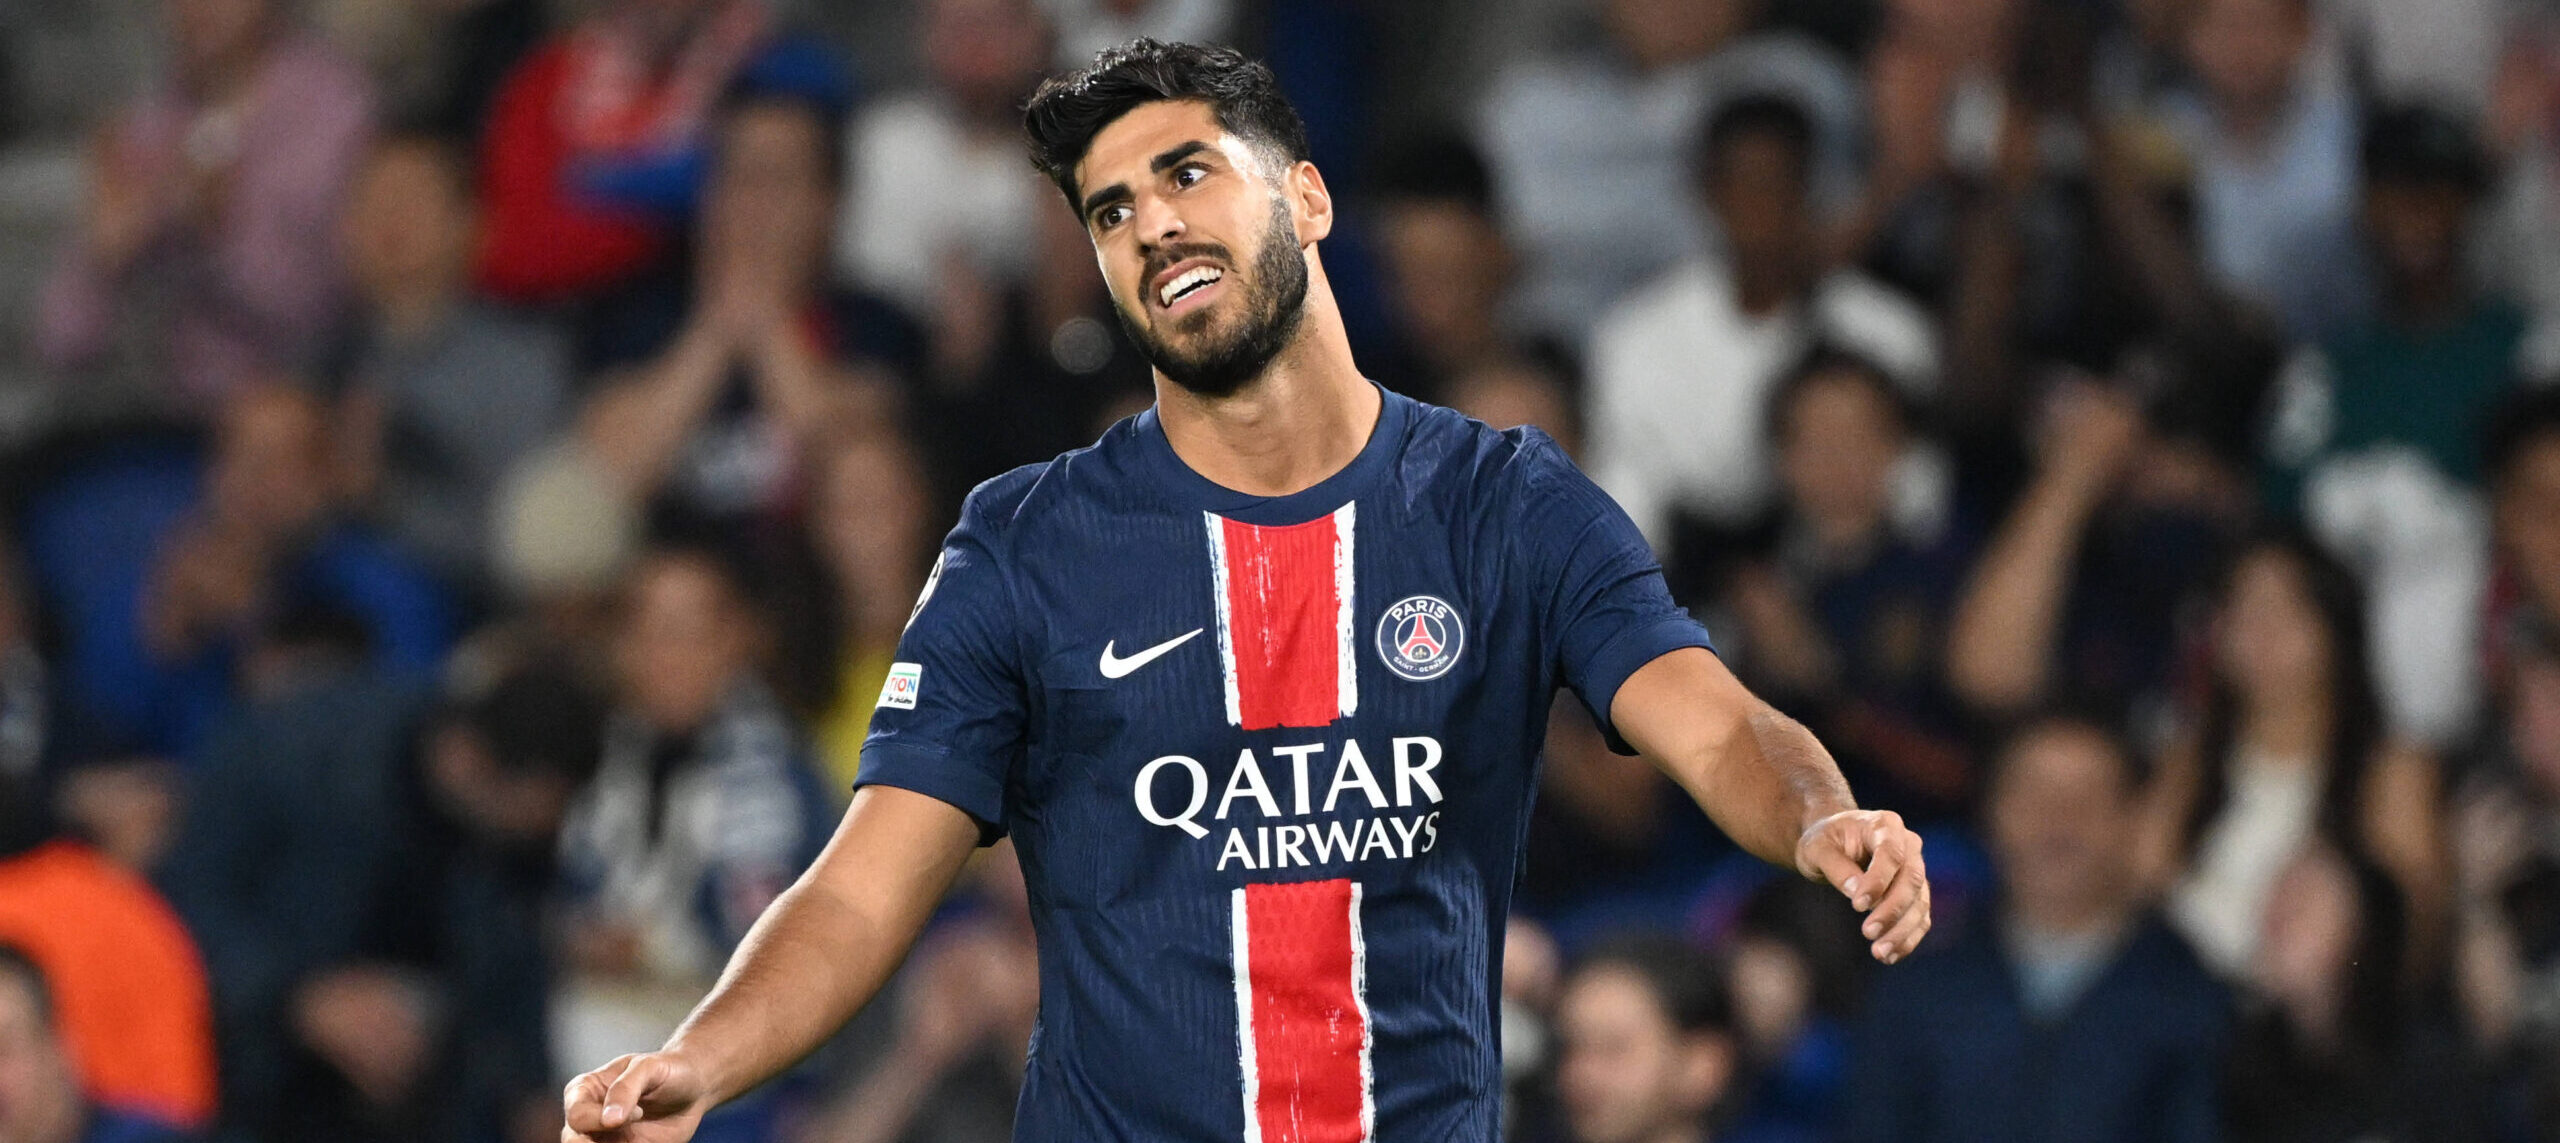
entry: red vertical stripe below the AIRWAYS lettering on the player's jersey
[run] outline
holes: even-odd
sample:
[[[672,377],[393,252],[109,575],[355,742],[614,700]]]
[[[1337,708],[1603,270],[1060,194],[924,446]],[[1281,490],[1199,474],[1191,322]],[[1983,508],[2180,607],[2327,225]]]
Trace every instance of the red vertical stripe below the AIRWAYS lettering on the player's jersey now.
[[[1349,879],[1247,884],[1252,1110],[1262,1143],[1370,1138],[1370,1020]],[[1254,1135],[1254,1133],[1247,1133]]]

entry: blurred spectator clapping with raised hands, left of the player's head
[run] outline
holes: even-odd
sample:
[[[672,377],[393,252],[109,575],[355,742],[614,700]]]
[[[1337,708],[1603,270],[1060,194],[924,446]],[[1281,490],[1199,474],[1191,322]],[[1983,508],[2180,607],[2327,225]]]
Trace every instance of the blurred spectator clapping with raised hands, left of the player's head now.
[[[835,141],[827,108],[799,95],[722,108],[689,282],[635,287],[599,325],[602,364],[625,369],[586,400],[581,436],[660,520],[758,546],[809,448],[883,418],[922,364],[901,313],[827,284]]]

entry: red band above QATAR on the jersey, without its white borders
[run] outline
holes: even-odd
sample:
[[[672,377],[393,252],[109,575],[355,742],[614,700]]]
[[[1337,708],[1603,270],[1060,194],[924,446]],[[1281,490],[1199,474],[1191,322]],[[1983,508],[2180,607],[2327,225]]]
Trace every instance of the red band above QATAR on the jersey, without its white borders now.
[[[1285,528],[1219,520],[1219,528],[1239,723],[1331,725],[1341,715],[1334,518]]]

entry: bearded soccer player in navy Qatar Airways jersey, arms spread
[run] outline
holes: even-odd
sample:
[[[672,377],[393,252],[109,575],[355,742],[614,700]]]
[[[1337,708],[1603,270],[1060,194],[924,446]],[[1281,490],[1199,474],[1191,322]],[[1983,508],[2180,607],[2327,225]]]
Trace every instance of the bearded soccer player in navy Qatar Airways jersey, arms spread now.
[[[827,853],[568,1140],[673,1143],[881,987],[973,846],[1039,930],[1021,1140],[1490,1140],[1554,689],[1738,843],[1928,933],[1920,838],[1751,697],[1536,431],[1359,377],[1270,69],[1137,41],[1027,108],[1157,405],[970,495]]]

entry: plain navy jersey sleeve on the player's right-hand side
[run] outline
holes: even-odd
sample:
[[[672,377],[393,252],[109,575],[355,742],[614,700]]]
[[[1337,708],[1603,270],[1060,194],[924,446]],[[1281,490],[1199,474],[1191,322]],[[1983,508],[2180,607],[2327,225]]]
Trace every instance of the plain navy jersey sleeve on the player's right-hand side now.
[[[1644,664],[1715,643],[1672,602],[1644,533],[1544,433],[1526,431],[1518,466],[1513,561],[1526,572],[1544,643],[1618,753],[1636,753],[1610,723],[1610,700]]]

